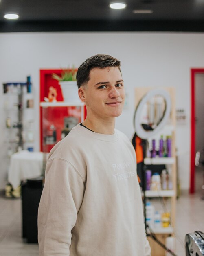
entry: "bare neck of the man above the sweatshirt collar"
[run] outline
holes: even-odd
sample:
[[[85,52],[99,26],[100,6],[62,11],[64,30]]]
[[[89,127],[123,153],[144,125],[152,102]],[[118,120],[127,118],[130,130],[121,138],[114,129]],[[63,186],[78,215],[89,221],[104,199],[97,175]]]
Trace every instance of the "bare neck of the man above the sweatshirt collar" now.
[[[83,121],[82,123],[84,126],[86,126],[88,129],[102,134],[114,134],[114,128],[115,128],[115,119],[97,119],[96,120],[90,120],[88,117]]]

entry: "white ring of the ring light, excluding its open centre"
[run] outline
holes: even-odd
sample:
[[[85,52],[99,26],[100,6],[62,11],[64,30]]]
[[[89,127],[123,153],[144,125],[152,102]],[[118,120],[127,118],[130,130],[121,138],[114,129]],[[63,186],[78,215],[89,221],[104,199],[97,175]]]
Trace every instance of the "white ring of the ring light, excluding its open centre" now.
[[[158,126],[154,128],[154,130],[145,131],[143,127],[140,125],[140,115],[142,113],[145,103],[147,103],[149,99],[151,99],[156,95],[160,95],[164,98],[164,101],[165,101],[164,116],[160,121],[160,123],[158,124]],[[138,137],[140,137],[141,139],[148,139],[149,137],[154,136],[163,126],[165,126],[169,118],[170,112],[171,112],[171,97],[167,91],[161,90],[161,89],[155,89],[147,92],[147,94],[145,94],[145,96],[138,103],[138,106],[136,107],[136,110],[134,112],[134,128]]]

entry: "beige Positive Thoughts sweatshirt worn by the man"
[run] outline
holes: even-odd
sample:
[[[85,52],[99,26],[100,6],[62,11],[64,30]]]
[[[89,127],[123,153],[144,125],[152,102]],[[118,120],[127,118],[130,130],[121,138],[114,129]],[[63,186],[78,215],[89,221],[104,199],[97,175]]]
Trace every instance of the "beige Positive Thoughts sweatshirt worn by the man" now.
[[[50,151],[38,210],[39,256],[150,256],[135,151],[77,125]]]

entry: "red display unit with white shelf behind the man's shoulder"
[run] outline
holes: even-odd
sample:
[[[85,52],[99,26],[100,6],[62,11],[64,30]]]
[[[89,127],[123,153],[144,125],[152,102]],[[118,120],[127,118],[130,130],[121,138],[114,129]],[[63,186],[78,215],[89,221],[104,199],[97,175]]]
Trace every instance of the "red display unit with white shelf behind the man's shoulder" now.
[[[64,101],[61,85],[52,77],[53,73],[61,72],[61,69],[40,70],[40,150],[44,153],[50,152],[86,116],[85,105],[76,100],[78,97]],[[55,92],[55,99],[50,99],[50,89]]]

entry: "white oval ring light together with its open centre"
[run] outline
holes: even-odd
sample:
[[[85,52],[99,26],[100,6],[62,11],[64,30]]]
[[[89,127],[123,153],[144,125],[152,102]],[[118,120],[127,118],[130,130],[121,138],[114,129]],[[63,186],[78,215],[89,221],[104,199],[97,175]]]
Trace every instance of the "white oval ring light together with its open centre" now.
[[[138,103],[134,112],[135,132],[141,139],[155,135],[171,112],[171,97],[165,90],[150,90]]]

